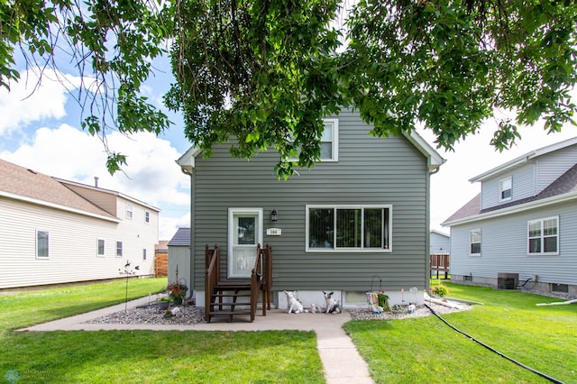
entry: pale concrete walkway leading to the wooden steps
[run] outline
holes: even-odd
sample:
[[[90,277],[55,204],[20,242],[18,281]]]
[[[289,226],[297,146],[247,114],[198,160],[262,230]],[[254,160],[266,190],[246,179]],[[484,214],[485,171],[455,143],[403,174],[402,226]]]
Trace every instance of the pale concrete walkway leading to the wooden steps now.
[[[128,303],[128,307],[148,304],[149,298],[142,297]],[[34,325],[21,331],[99,331],[99,330],[155,330],[155,331],[276,331],[298,330],[316,333],[316,348],[325,369],[327,384],[365,384],[374,383],[369,368],[357,351],[351,339],[344,333],[343,324],[351,320],[344,312],[340,315],[287,314],[279,309],[267,311],[266,316],[257,316],[252,323],[238,318],[233,323],[198,323],[196,325],[120,325],[120,324],[84,324],[84,322],[124,310],[124,304],[110,306],[76,315],[50,323]],[[312,317],[314,316],[314,317]],[[314,319],[314,321],[312,321]]]

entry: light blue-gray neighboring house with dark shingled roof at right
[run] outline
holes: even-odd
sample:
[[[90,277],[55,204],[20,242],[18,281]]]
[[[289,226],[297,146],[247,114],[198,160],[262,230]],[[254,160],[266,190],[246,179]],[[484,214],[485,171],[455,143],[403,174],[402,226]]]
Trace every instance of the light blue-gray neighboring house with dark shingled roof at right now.
[[[577,295],[577,137],[470,181],[481,193],[444,222],[452,279]]]

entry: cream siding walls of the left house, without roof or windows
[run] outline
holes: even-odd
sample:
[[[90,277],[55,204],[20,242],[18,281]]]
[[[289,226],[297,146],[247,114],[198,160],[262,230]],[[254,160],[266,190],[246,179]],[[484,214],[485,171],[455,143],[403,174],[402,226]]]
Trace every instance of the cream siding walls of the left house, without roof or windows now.
[[[139,275],[152,274],[158,212],[151,211],[150,224],[144,224],[144,208],[133,209],[138,220],[116,224],[0,197],[0,288],[116,279],[127,259],[140,266]],[[48,259],[36,258],[37,230],[49,232]],[[97,239],[105,240],[105,257],[96,256]],[[116,257],[116,242],[123,242],[122,258]]]

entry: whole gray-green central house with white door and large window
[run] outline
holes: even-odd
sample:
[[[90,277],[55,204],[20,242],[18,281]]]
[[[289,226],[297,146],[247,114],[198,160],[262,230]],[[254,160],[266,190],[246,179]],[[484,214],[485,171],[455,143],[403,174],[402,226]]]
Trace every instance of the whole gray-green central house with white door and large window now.
[[[325,119],[321,161],[282,180],[279,153],[251,160],[215,145],[195,148],[178,163],[191,178],[191,275],[203,305],[205,246],[221,249],[221,276],[250,276],[257,243],[273,253],[273,303],[284,289],[305,306],[324,306],[321,290],[344,306],[365,304],[365,291],[428,287],[430,175],[443,158],[417,133],[371,137],[371,126],[349,110]],[[274,215],[276,214],[276,215]],[[372,284],[371,284],[372,281]],[[405,297],[407,298],[407,297]]]

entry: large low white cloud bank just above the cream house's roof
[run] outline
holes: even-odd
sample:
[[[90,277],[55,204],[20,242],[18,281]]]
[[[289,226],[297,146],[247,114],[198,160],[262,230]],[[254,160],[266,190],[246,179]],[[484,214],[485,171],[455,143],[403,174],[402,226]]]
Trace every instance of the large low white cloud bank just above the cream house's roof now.
[[[160,209],[160,239],[171,237],[176,228],[189,225],[190,179],[180,171],[175,160],[180,154],[166,140],[152,133],[136,133],[131,138],[122,133],[107,136],[108,146],[127,156],[124,172],[111,176],[105,168],[103,143],[67,124],[57,129],[38,129],[30,144],[0,157],[41,173],[119,191]],[[177,217],[173,217],[175,213]],[[184,213],[184,214],[183,214]],[[189,218],[188,218],[189,220]]]

